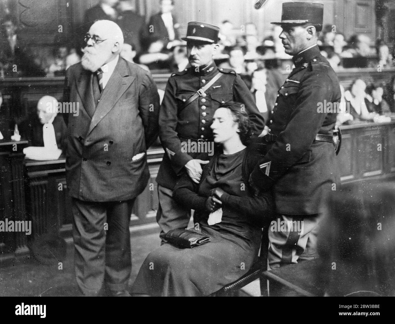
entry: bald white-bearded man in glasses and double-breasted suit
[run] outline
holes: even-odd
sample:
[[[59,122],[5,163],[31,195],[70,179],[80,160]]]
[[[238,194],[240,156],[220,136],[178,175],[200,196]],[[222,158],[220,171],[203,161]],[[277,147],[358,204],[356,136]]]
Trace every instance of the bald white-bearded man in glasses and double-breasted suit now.
[[[81,63],[66,71],[63,99],[79,104],[78,116],[64,114],[75,273],[86,296],[97,296],[103,281],[113,296],[129,296],[129,223],[149,179],[158,90],[149,72],[119,57],[123,35],[114,22],[94,23],[85,42]]]

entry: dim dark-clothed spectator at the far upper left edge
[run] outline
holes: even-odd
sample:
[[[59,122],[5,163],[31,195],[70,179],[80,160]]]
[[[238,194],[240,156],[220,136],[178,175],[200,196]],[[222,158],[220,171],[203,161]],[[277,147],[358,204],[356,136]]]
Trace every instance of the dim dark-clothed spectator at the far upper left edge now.
[[[5,15],[0,21],[0,65],[5,77],[45,76],[32,51],[19,39],[13,15]]]

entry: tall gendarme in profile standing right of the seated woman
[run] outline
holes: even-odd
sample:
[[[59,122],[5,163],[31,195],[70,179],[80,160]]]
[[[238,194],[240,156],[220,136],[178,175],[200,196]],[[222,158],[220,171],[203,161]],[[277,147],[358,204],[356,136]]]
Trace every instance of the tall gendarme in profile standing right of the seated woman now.
[[[318,110],[320,103],[326,107],[341,96],[339,80],[317,46],[323,12],[322,4],[286,2],[282,21],[274,23],[283,28],[279,37],[295,68],[278,90],[262,141],[264,156],[250,176],[252,186],[272,190],[275,197],[278,224],[269,229],[272,269],[317,257],[322,203],[338,180],[333,145],[337,114]]]

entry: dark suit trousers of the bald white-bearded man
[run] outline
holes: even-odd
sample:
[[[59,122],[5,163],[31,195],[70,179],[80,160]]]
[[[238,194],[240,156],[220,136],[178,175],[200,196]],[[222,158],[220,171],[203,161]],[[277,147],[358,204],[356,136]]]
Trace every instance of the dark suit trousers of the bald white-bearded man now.
[[[72,199],[75,277],[85,295],[96,296],[104,281],[110,290],[126,289],[132,270],[129,224],[134,200]]]

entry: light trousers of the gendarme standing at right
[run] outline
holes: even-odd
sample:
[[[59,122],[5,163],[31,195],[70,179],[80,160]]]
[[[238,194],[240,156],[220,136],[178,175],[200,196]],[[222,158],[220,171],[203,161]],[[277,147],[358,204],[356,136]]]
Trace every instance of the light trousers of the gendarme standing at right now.
[[[321,218],[320,214],[277,214],[269,227],[270,268],[318,258],[317,232]]]

